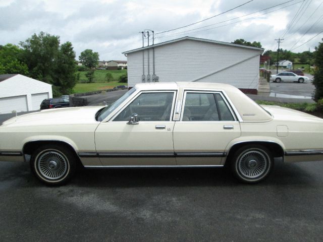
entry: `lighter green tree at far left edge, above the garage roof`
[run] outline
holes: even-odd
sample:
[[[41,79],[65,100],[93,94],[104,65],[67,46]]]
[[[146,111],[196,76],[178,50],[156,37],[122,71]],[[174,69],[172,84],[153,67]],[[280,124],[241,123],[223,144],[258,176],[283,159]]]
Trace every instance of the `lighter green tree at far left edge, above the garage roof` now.
[[[22,49],[13,44],[0,45],[0,74],[28,75],[28,67],[22,61]]]

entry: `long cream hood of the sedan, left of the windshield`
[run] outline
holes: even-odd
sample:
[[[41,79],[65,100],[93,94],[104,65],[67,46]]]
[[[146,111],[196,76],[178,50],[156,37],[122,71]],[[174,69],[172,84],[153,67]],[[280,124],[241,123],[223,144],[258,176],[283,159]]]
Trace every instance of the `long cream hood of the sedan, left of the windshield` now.
[[[3,126],[40,126],[97,123],[95,113],[102,106],[46,109],[10,118]]]

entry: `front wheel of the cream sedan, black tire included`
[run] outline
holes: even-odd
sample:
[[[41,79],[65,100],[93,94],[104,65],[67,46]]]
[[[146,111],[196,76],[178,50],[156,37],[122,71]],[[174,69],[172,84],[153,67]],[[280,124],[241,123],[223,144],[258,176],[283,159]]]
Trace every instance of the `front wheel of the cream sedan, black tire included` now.
[[[74,153],[68,147],[48,144],[39,147],[31,155],[30,168],[42,183],[61,186],[73,176],[75,160]]]

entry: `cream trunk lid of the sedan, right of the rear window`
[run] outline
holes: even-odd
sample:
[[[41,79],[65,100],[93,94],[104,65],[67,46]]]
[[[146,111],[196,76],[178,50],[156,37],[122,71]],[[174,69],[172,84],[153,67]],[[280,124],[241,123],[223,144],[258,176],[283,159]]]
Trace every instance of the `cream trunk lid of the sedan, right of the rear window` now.
[[[287,107],[280,107],[280,106],[272,106],[272,105],[260,105],[266,111],[270,112],[274,119],[276,120],[284,120],[284,121],[298,121],[298,122],[315,122],[315,123],[322,123],[323,119],[313,116],[311,114],[297,111]]]

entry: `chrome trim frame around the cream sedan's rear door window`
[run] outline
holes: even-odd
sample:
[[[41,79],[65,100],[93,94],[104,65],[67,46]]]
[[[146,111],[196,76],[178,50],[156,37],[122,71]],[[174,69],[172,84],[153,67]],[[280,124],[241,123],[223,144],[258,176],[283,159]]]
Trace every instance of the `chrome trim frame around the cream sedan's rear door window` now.
[[[182,97],[182,107],[181,107],[181,115],[180,115],[180,121],[181,122],[237,122],[237,121],[240,121],[239,120],[239,117],[240,116],[237,116],[236,113],[234,112],[234,110],[232,109],[232,106],[231,104],[227,101],[227,98],[223,95],[223,91],[222,90],[204,90],[204,89],[183,89],[183,92],[184,92],[184,96]],[[231,115],[233,116],[234,120],[231,120],[231,121],[226,121],[226,120],[219,120],[219,121],[211,121],[211,120],[206,120],[206,121],[183,121],[183,112],[184,112],[184,107],[185,107],[185,101],[186,101],[186,94],[187,93],[211,93],[211,94],[220,94],[221,97],[223,98],[224,102],[226,103],[227,107],[229,108],[230,112],[231,112]]]

